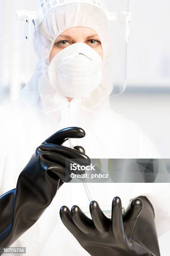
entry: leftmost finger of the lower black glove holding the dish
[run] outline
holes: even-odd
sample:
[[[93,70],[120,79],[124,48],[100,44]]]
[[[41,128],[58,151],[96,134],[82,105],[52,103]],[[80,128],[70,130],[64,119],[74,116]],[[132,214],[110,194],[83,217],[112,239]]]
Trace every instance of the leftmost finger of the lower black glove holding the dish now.
[[[60,218],[62,220],[62,223],[65,225],[65,227],[72,233],[73,236],[75,236],[75,238],[80,236],[81,230],[77,228],[77,226],[73,222],[71,218],[70,210],[68,209],[67,206],[61,207]]]

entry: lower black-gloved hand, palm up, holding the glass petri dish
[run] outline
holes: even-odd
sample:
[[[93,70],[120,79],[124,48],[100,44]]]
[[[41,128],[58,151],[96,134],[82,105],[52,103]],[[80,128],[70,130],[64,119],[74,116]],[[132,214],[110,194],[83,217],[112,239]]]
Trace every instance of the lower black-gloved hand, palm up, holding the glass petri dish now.
[[[144,204],[145,206],[148,207]],[[71,212],[66,206],[61,207],[60,217],[66,228],[92,256],[158,256],[160,253],[152,254],[145,244],[142,245],[139,241],[135,242],[132,239],[136,223],[138,223],[138,230],[135,233],[138,235],[139,232],[140,237],[145,236],[144,241],[154,235],[149,230],[148,233],[140,233],[140,227],[142,226],[141,231],[146,231],[145,225],[148,224],[145,223],[145,218],[141,223],[138,221],[142,209],[142,200],[135,198],[130,201],[128,209],[122,215],[121,200],[115,197],[112,201],[111,219],[103,214],[96,201],[90,203],[92,220],[78,206],[73,206]],[[146,211],[148,212],[147,209]],[[145,215],[145,208],[142,212]],[[153,222],[152,225],[154,225]],[[138,236],[139,240],[140,237]],[[154,238],[157,244],[157,237]]]

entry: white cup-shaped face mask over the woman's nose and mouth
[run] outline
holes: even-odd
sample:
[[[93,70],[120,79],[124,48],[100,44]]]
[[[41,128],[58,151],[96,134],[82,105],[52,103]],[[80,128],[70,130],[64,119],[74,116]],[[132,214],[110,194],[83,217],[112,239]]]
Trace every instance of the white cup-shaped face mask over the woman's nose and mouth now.
[[[100,85],[102,58],[87,44],[72,44],[54,56],[48,74],[52,86],[61,95],[85,97]]]

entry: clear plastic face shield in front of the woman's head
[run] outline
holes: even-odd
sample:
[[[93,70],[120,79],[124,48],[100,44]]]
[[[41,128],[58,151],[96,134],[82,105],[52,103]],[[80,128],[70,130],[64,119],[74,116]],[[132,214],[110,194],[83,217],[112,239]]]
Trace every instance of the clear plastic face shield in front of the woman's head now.
[[[110,10],[110,11],[108,11]],[[25,21],[27,56],[30,58],[30,27],[33,21],[33,43],[39,58],[27,84],[34,95],[78,99],[86,108],[95,108],[103,100],[121,94],[126,86],[126,51],[129,39],[128,0],[41,0],[38,12],[18,12]],[[75,36],[72,28],[88,28],[100,39],[100,53],[87,44],[86,37]],[[56,40],[65,32],[72,33],[67,47],[50,54]],[[75,32],[76,33],[76,32]],[[93,37],[91,42],[95,41]],[[65,38],[63,38],[65,40]],[[26,58],[27,59],[27,58]],[[25,72],[29,77],[27,65]],[[35,81],[34,86],[33,81]]]

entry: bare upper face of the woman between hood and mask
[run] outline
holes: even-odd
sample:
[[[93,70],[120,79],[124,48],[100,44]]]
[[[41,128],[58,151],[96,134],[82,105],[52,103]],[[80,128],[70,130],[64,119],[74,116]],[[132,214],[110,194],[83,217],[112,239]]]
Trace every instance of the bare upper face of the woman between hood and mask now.
[[[62,49],[75,43],[88,44],[103,59],[103,50],[99,36],[94,30],[86,27],[68,28],[57,37],[50,52],[50,62],[52,58]]]

